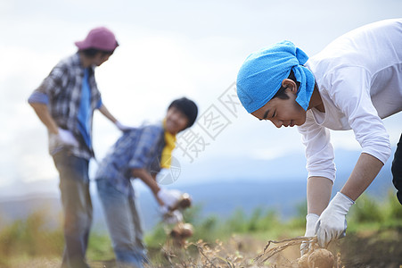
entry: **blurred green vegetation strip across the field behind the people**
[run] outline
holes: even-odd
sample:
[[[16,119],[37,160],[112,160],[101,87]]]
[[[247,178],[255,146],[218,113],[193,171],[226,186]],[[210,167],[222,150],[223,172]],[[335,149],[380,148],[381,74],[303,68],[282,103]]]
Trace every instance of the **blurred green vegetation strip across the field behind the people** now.
[[[285,239],[304,233],[306,204],[300,204],[298,214],[290,220],[281,220],[275,211],[258,207],[250,214],[241,209],[234,211],[228,219],[217,215],[200,218],[201,207],[193,206],[185,212],[185,221],[193,224],[194,234],[190,241],[200,239],[214,243],[217,239],[227,241],[236,236],[248,236],[253,239]],[[34,212],[24,221],[15,221],[0,228],[0,267],[15,267],[37,258],[61,258],[63,249],[62,224],[59,228],[50,228],[46,222],[49,215],[44,211]],[[0,222],[1,218],[0,218]],[[402,206],[393,192],[384,200],[376,200],[364,194],[359,197],[348,215],[348,233],[362,231],[402,230]],[[153,255],[160,254],[160,248],[167,239],[167,230],[158,225],[150,232],[145,242]],[[91,233],[87,258],[91,261],[107,261],[114,258],[111,240],[107,233]]]

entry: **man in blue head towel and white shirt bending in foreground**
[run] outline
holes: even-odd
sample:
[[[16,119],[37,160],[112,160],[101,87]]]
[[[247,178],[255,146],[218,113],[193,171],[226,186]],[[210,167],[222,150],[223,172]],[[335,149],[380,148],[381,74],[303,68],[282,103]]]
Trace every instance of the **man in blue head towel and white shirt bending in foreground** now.
[[[278,128],[298,126],[308,160],[305,236],[316,235],[321,247],[343,237],[349,207],[390,157],[381,119],[402,111],[402,19],[355,29],[310,59],[289,41],[268,46],[245,60],[236,86],[248,113]],[[362,147],[331,202],[335,164],[329,130],[353,130]],[[399,142],[392,172],[402,204],[401,151]],[[307,251],[303,244],[301,254]]]

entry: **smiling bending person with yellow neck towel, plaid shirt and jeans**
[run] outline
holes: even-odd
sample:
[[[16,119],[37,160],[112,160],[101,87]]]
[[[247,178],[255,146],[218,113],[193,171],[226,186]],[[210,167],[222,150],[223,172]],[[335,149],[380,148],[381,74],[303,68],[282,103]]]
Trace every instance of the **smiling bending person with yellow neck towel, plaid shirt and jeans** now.
[[[149,262],[131,178],[142,180],[151,189],[165,222],[183,222],[176,210],[183,194],[161,188],[156,175],[161,168],[170,168],[176,134],[190,128],[197,113],[192,100],[176,99],[163,121],[124,132],[100,163],[95,180],[119,267],[143,267]]]

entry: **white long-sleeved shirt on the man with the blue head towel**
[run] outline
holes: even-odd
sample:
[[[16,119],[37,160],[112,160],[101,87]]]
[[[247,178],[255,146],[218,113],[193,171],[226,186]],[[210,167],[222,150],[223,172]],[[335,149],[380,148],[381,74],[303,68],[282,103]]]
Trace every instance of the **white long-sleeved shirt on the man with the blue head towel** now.
[[[308,110],[298,128],[306,145],[308,177],[335,180],[329,130],[353,130],[362,152],[385,163],[390,138],[381,119],[402,111],[402,19],[352,30],[306,66],[325,108],[324,113]]]

